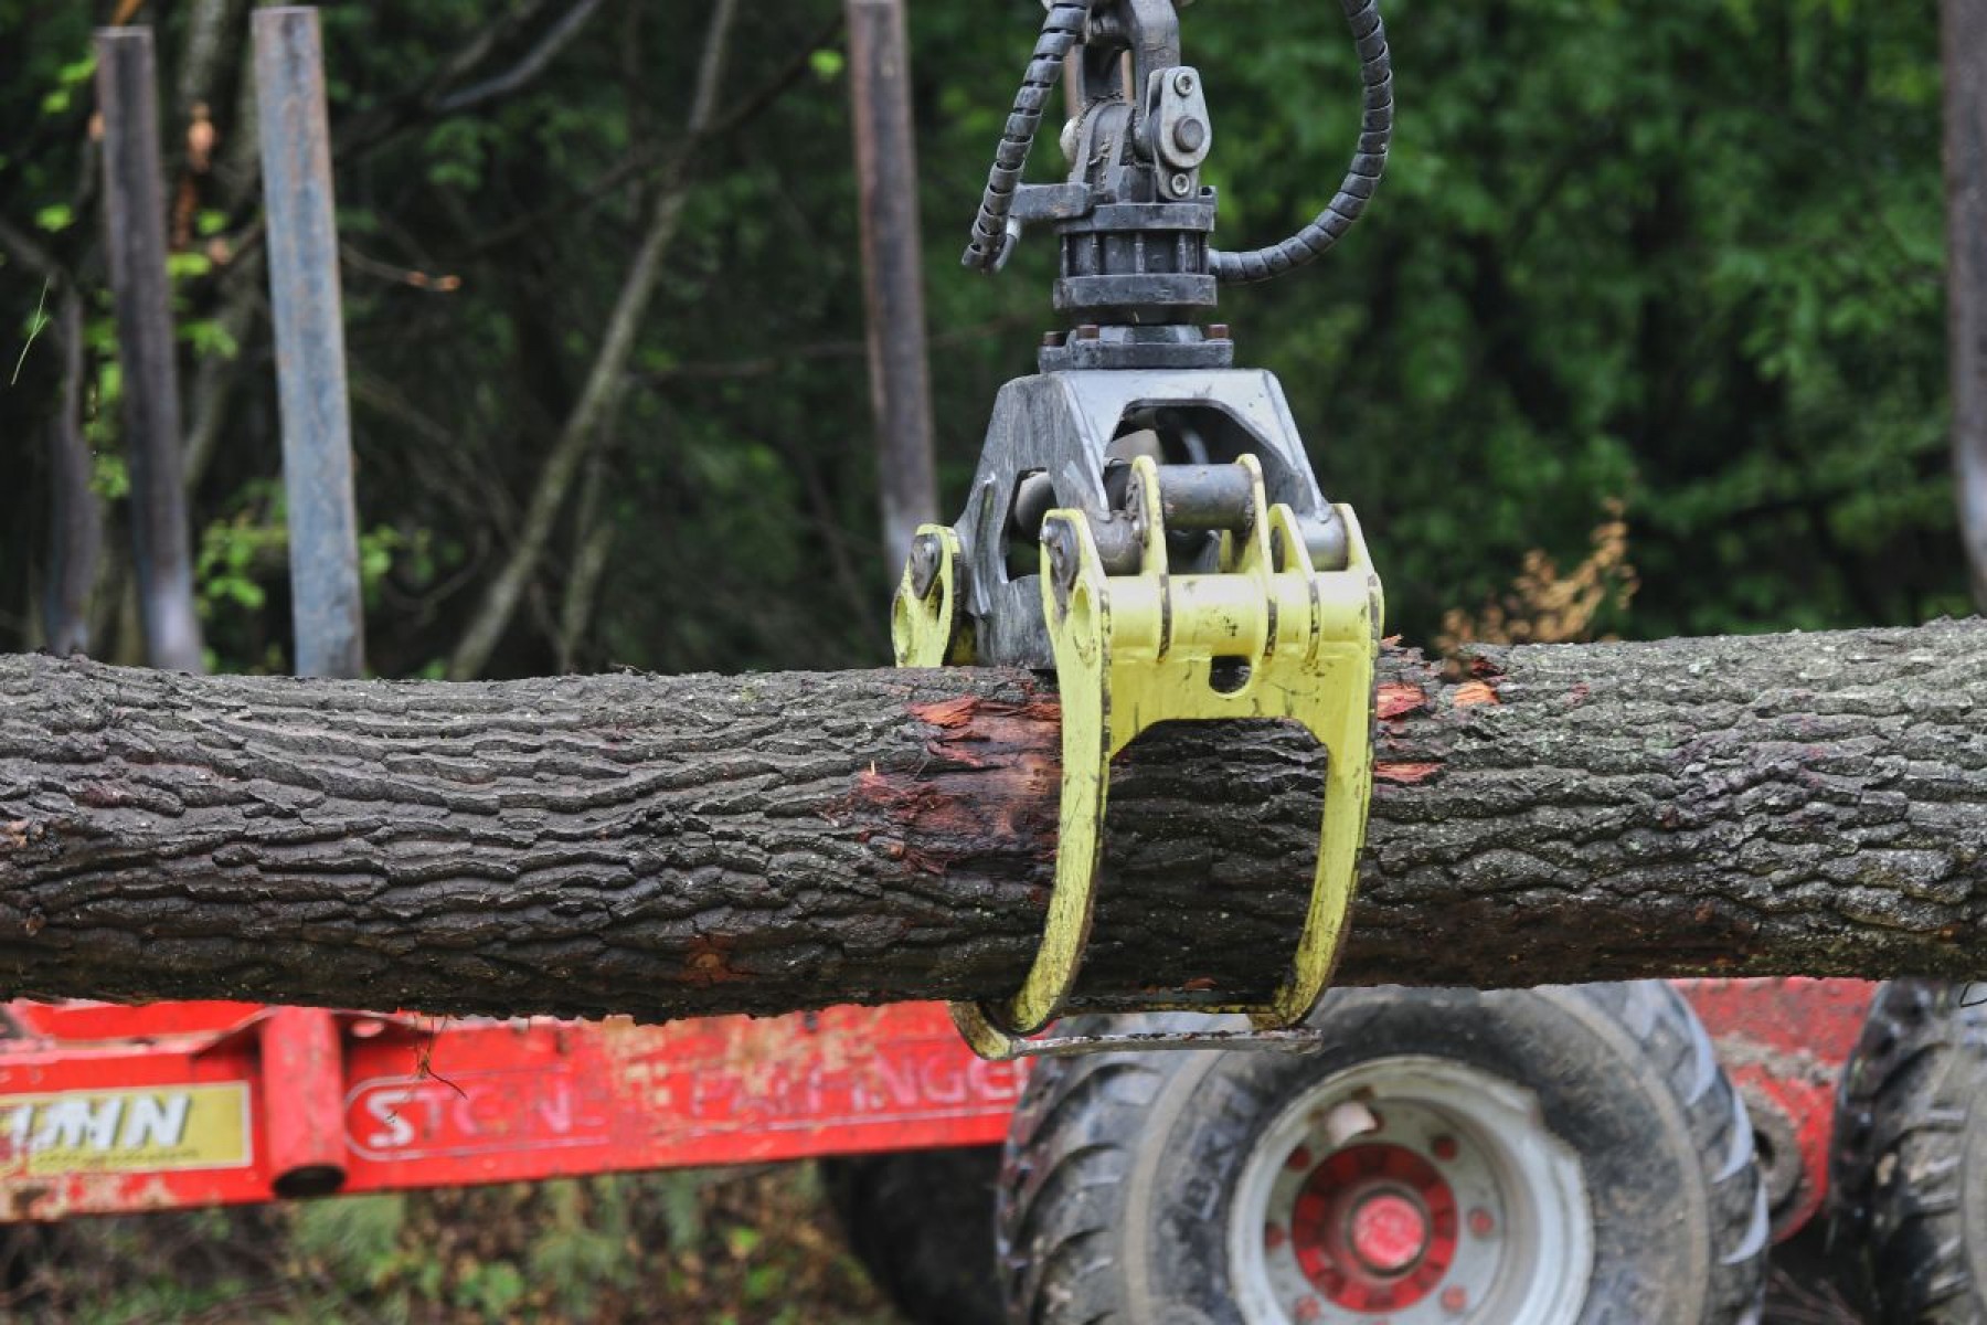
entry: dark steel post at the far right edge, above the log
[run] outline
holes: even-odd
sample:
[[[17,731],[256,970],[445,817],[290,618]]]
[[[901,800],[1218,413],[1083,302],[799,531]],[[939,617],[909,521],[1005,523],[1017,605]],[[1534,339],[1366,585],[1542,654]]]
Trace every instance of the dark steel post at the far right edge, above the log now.
[[[1973,602],[1987,612],[1987,6],[1945,0],[1947,354],[1953,489]]]

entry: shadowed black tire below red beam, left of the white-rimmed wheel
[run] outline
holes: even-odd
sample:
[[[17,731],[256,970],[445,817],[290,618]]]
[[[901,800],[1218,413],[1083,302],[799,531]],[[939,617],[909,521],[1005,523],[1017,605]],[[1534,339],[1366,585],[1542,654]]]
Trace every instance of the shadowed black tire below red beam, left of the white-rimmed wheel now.
[[[1001,1325],[994,1273],[999,1146],[821,1160],[848,1250],[912,1325]]]

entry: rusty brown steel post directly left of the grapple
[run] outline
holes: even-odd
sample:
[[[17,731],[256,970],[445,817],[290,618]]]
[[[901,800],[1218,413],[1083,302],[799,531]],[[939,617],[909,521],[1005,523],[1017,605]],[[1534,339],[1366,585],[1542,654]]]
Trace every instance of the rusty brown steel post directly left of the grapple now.
[[[868,304],[876,487],[890,574],[918,524],[938,518],[932,381],[924,362],[924,258],[918,242],[918,141],[910,125],[910,44],[902,0],[846,0]]]

